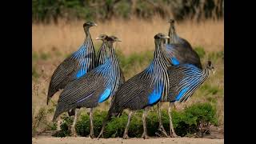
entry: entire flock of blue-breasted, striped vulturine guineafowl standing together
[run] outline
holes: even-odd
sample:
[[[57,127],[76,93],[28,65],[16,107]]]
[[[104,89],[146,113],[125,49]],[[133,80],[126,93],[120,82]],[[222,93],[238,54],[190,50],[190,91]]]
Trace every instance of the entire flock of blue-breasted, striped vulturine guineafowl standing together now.
[[[158,105],[158,130],[166,137],[177,137],[170,115],[172,105],[174,102],[186,102],[206,81],[210,71],[214,73],[214,66],[208,61],[206,68],[202,69],[200,58],[190,43],[176,34],[174,20],[170,19],[169,23],[168,35],[159,33],[154,36],[154,58],[150,65],[139,74],[125,80],[113,46],[114,42],[121,41],[115,36],[100,34],[96,39],[102,40],[102,46],[96,57],[89,29],[97,24],[85,22],[85,42],[54,70],[50,80],[47,105],[50,98],[58,90],[63,89],[53,121],[56,121],[63,112],[68,112],[70,116],[74,115],[71,132],[76,135],[74,126],[78,110],[82,107],[90,108],[90,138],[94,138],[93,109],[111,97],[110,110],[98,138],[102,137],[106,123],[111,117],[120,116],[126,109],[129,110],[129,114],[123,138],[129,138],[128,129],[133,112],[141,109],[144,110],[142,138],[149,138],[146,116],[150,106],[154,105]],[[160,102],[170,102],[170,135],[162,126]]]

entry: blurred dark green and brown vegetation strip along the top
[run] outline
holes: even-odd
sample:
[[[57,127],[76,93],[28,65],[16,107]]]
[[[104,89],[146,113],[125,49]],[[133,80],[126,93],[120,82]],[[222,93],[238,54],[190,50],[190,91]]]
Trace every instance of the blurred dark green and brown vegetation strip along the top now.
[[[32,0],[33,22],[58,22],[111,18],[174,18],[177,21],[190,18],[219,19],[224,14],[224,0]]]

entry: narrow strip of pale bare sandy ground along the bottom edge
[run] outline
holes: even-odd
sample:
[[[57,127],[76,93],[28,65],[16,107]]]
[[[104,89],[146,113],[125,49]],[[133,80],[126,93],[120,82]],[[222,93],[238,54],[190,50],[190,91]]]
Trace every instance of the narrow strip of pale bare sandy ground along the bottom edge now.
[[[53,138],[53,137],[38,137],[32,138],[33,144],[215,144],[224,143],[224,139],[210,139],[210,138],[86,138],[86,137],[66,137],[66,138]]]

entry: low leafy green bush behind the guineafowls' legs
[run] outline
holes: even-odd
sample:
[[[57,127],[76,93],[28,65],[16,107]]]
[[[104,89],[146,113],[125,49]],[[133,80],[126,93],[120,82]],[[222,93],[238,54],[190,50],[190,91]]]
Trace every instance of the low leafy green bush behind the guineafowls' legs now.
[[[97,136],[102,129],[103,119],[106,118],[106,111],[94,112],[94,134]],[[202,126],[210,126],[218,124],[216,118],[216,110],[210,105],[210,103],[198,103],[192,106],[186,107],[182,111],[173,110],[172,113],[174,130],[179,136],[187,136],[197,132],[204,132]],[[104,138],[116,138],[122,137],[122,134],[126,128],[126,122],[128,120],[128,114],[123,112],[120,118],[112,118],[110,122],[107,123],[106,129],[104,131]],[[163,126],[166,129],[166,132],[170,134],[169,127],[169,117],[166,110],[162,110],[162,122]],[[150,111],[146,119],[147,130],[150,136],[156,136],[158,132],[158,113]],[[58,134],[54,136],[65,137],[70,135],[70,126],[72,121],[67,116],[64,117],[64,123],[62,123],[61,130]],[[90,134],[90,120],[88,114],[82,114],[81,118],[78,119],[78,122],[75,126],[78,135],[87,136]],[[142,125],[142,110],[138,110],[135,114],[132,115],[129,136],[131,138],[141,137],[143,132]]]

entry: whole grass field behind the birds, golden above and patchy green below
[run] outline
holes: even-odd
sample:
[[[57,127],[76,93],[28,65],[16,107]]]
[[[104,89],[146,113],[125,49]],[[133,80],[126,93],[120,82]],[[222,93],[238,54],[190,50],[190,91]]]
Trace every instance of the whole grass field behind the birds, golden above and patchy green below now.
[[[162,32],[167,34],[169,25],[167,20],[154,18],[153,21],[132,19],[123,21],[121,19],[110,22],[96,22],[98,26],[90,29],[94,46],[98,50],[102,44],[95,40],[99,34],[114,34],[122,40],[114,45],[118,51],[122,70],[126,79],[144,70],[150,63],[154,51],[154,35]],[[50,122],[54,114],[54,105],[58,101],[60,92],[54,95],[50,106],[46,106],[46,94],[51,74],[60,62],[82,45],[85,34],[82,29],[83,21],[65,22],[60,21],[58,25],[33,24],[32,25],[32,114],[33,119],[42,108],[46,109],[46,122]],[[210,59],[215,67],[215,75],[200,87],[190,98],[190,101],[177,104],[177,109],[182,110],[184,106],[190,106],[194,102],[211,102],[217,107],[218,125],[224,122],[224,22],[208,20],[205,22],[181,22],[176,23],[176,31],[186,38],[191,45],[200,52],[202,64]],[[167,103],[163,104],[166,107]],[[103,102],[97,108],[107,110],[108,102]],[[38,118],[38,117],[37,117]],[[32,123],[32,125],[36,125]],[[44,125],[38,124],[38,130]]]

